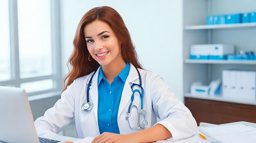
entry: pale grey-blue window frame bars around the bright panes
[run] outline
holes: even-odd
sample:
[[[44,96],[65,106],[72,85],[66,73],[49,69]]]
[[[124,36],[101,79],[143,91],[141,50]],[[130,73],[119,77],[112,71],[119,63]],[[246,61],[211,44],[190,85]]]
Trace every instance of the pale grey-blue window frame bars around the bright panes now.
[[[61,91],[62,89],[62,66],[61,66],[61,26],[60,26],[60,1],[50,0],[51,17],[51,49],[52,49],[52,74],[47,76],[36,76],[31,78],[20,78],[19,61],[19,41],[18,41],[18,7],[17,0],[9,0],[9,27],[10,27],[10,61],[11,61],[11,79],[0,81],[0,86],[20,87],[24,82],[33,82],[38,80],[53,80],[53,88],[43,91],[28,93],[38,95]]]

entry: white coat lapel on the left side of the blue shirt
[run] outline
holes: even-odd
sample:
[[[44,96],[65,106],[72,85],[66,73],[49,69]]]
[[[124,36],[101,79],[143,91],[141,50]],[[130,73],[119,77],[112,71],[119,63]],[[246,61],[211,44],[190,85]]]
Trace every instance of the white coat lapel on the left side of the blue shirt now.
[[[100,68],[100,67],[99,67]],[[99,77],[99,68],[97,69],[97,72],[92,78],[92,84],[89,89],[89,101],[93,104],[93,112],[95,115],[95,118],[98,124],[98,77]],[[89,81],[88,81],[89,83]],[[87,83],[87,84],[88,84]]]

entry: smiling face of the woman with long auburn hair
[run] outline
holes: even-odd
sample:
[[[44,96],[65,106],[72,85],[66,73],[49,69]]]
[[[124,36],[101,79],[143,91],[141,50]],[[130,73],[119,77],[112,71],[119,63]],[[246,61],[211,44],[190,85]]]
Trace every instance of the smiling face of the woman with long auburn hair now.
[[[87,24],[83,32],[88,51],[100,65],[124,62],[121,56],[121,43],[108,24],[96,20]]]

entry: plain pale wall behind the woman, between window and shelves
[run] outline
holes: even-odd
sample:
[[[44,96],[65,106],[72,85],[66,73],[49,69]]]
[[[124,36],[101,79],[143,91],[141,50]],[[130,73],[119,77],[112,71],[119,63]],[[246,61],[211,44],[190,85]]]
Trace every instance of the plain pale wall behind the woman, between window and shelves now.
[[[61,35],[63,75],[72,52],[76,27],[85,12],[111,6],[123,17],[140,63],[161,74],[177,97],[182,95],[182,2],[183,0],[62,0]]]

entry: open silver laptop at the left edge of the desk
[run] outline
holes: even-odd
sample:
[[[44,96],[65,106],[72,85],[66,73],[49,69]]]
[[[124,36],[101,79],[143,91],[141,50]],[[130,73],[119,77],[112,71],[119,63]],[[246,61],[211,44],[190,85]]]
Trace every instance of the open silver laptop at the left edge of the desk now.
[[[40,141],[39,141],[40,140]],[[0,142],[60,143],[38,138],[25,89],[0,86]]]

